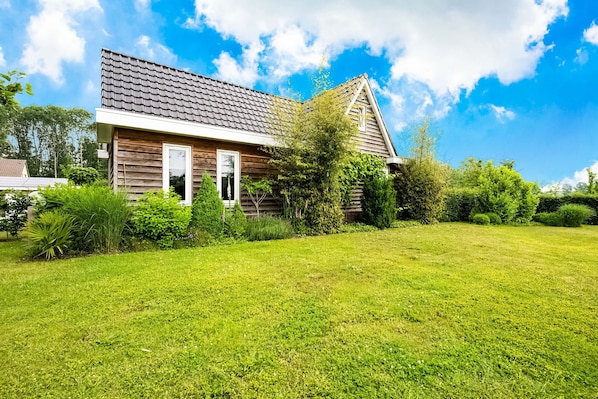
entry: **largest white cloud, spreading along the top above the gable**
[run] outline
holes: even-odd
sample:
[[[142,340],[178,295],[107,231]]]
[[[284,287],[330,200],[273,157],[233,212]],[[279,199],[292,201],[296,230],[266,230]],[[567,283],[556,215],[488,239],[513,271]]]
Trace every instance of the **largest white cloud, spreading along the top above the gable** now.
[[[251,58],[247,52],[263,47],[257,63],[267,73],[256,79],[283,79],[317,68],[323,56],[332,60],[346,49],[365,46],[392,64],[388,81],[380,86],[391,92],[407,89],[406,100],[420,101],[404,112],[442,115],[481,78],[494,76],[509,84],[533,76],[551,48],[543,41],[548,26],[568,13],[566,0],[455,4],[372,1],[366,12],[361,0],[195,0],[195,19],[185,25],[209,26],[241,43],[246,49],[241,62],[233,64],[232,55],[221,54],[217,63],[234,65],[240,75],[246,67],[253,76],[255,64],[244,60]]]

